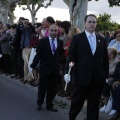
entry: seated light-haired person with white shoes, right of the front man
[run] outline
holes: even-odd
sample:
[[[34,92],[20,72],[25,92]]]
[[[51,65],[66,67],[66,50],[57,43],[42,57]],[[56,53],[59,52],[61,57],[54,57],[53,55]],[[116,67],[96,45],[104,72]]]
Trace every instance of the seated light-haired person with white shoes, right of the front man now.
[[[112,110],[110,107],[108,100],[111,100],[111,92],[112,89],[110,88],[108,81],[113,80],[114,78],[119,79],[118,77],[118,70],[120,66],[118,66],[119,59],[117,58],[117,50],[115,48],[108,48],[108,56],[109,56],[109,77],[106,81],[106,84],[103,87],[102,96],[104,98],[104,106],[100,109],[100,112],[105,112],[109,115],[114,115],[116,113],[116,110]]]

